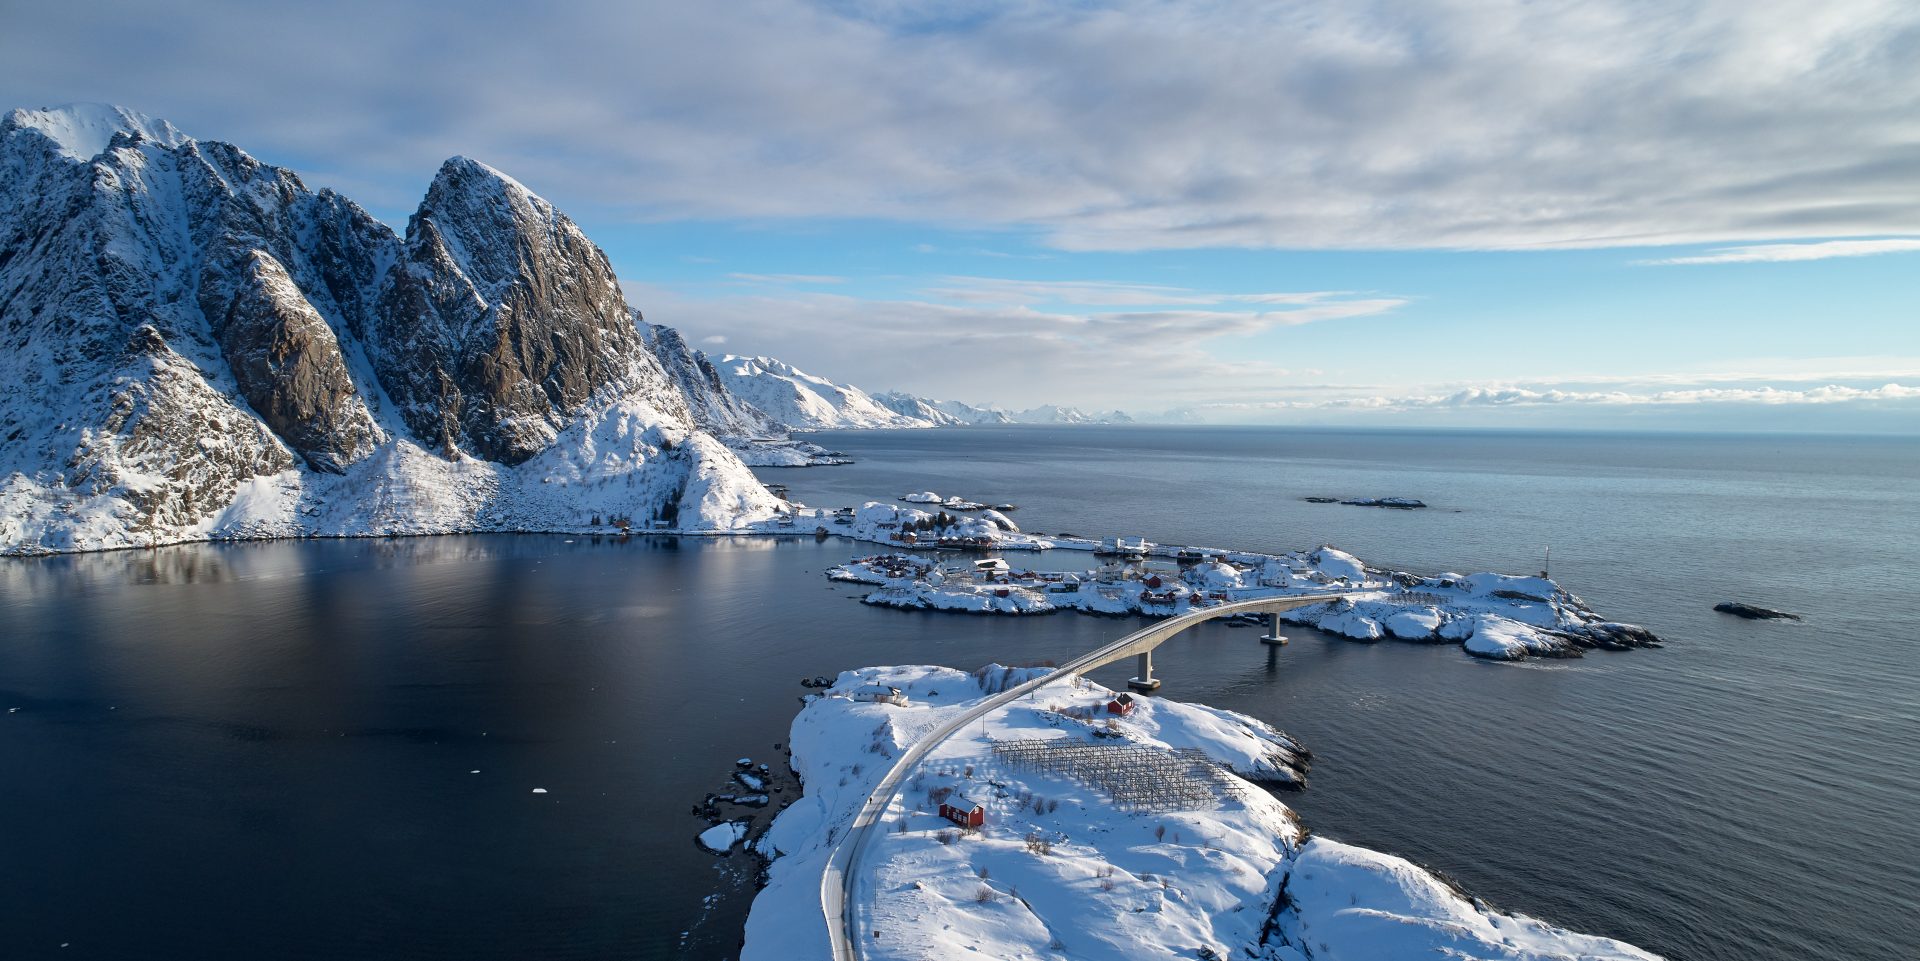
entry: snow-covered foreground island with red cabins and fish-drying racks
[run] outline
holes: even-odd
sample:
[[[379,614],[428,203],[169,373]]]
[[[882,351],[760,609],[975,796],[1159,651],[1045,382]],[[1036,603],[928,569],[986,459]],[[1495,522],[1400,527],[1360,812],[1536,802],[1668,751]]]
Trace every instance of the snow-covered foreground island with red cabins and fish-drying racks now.
[[[929,731],[1039,673],[866,668],[810,696],[791,735],[804,796],[753,840],[772,863],[741,961],[829,957],[839,919],[822,909],[822,873],[868,794]],[[862,698],[866,689],[899,696]],[[1060,677],[964,723],[904,771],[849,869],[858,957],[1655,957],[1494,911],[1405,859],[1309,836],[1254,785],[1288,783],[1304,762],[1300,744],[1254,717],[1164,698],[1121,704]]]

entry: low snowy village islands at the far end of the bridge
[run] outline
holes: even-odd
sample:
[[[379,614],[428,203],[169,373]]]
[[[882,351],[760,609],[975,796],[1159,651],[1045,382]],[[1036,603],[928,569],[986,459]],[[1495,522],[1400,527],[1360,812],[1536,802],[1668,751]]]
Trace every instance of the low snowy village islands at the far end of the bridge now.
[[[1058,572],[1018,568],[1002,558],[941,562],[897,551],[854,558],[828,572],[835,581],[874,585],[866,602],[879,606],[970,614],[1077,610],[1173,616],[1238,600],[1340,591],[1346,597],[1298,608],[1283,618],[1354,641],[1450,643],[1494,660],[1565,658],[1588,648],[1659,645],[1659,637],[1645,627],[1601,618],[1548,577],[1419,575],[1371,568],[1332,547],[1261,554],[1150,545],[1127,537],[1043,537],[1018,531],[1012,520],[993,510],[962,518],[868,503],[860,510],[843,508],[831,518],[849,537],[887,543],[899,551],[993,547],[1119,556],[1096,568]],[[1140,560],[1127,560],[1129,556]]]

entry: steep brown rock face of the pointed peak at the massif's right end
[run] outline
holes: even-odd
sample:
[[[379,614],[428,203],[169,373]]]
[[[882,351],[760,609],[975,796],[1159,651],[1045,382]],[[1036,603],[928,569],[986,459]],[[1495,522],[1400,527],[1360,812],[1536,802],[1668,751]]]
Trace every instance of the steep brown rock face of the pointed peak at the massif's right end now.
[[[378,301],[380,380],[413,432],[518,464],[607,391],[685,409],[639,343],[607,255],[566,215],[467,157],[440,167]]]

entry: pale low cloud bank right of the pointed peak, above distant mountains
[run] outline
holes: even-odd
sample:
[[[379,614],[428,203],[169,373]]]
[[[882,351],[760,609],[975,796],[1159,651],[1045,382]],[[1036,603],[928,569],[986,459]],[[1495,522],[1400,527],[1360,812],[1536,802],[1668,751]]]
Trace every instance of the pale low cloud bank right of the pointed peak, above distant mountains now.
[[[862,299],[829,292],[687,297],[634,284],[628,295],[647,305],[649,318],[693,336],[724,330],[755,353],[868,389],[1010,407],[1073,403],[1100,409],[1202,403],[1269,389],[1294,374],[1271,363],[1223,359],[1212,341],[1379,316],[1405,303],[1338,293],[1244,299],[1185,288],[970,280],[954,290],[991,290],[995,297]],[[1031,297],[1012,297],[1021,286]],[[1116,299],[1202,307],[1075,311],[1110,307]],[[1062,303],[1075,309],[1062,309]],[[1269,309],[1275,305],[1281,309]]]

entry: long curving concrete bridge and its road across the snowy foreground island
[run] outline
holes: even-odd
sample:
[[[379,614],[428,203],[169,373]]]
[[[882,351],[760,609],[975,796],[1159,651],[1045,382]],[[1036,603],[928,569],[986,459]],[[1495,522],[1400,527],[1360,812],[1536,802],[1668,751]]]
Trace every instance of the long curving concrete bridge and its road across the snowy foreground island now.
[[[860,884],[860,856],[866,852],[866,846],[874,836],[874,827],[879,823],[881,815],[887,813],[887,808],[893,806],[893,800],[900,796],[900,785],[906,783],[906,777],[914,771],[920,760],[933,752],[933,748],[945,744],[954,731],[960,731],[987,714],[993,714],[1050,683],[1127,658],[1139,658],[1137,673],[1127,681],[1127,687],[1152,691],[1160,687],[1160,681],[1154,677],[1154,648],[1167,643],[1173,635],[1215,618],[1233,614],[1269,614],[1273,616],[1273,631],[1267,633],[1267,637],[1261,637],[1261,641],[1269,645],[1284,645],[1286,641],[1281,637],[1281,614],[1294,608],[1325,604],[1340,597],[1346,597],[1346,593],[1235,600],[1150,623],[1127,637],[1121,637],[1119,641],[1114,641],[1112,645],[1094,648],[1062,664],[1046,677],[1035,677],[1023,685],[1010,687],[975,704],[973,708],[968,708],[960,715],[916,740],[904,754],[900,754],[900,760],[893,762],[887,775],[881,777],[879,785],[876,785],[872,794],[866,796],[866,802],[852,819],[852,827],[849,827],[839,846],[833,848],[833,854],[828,856],[826,871],[820,875],[820,909],[828,923],[828,940],[833,949],[833,961],[858,961],[864,938],[872,936],[872,930],[868,930],[862,921],[866,902],[858,896],[856,888]]]

